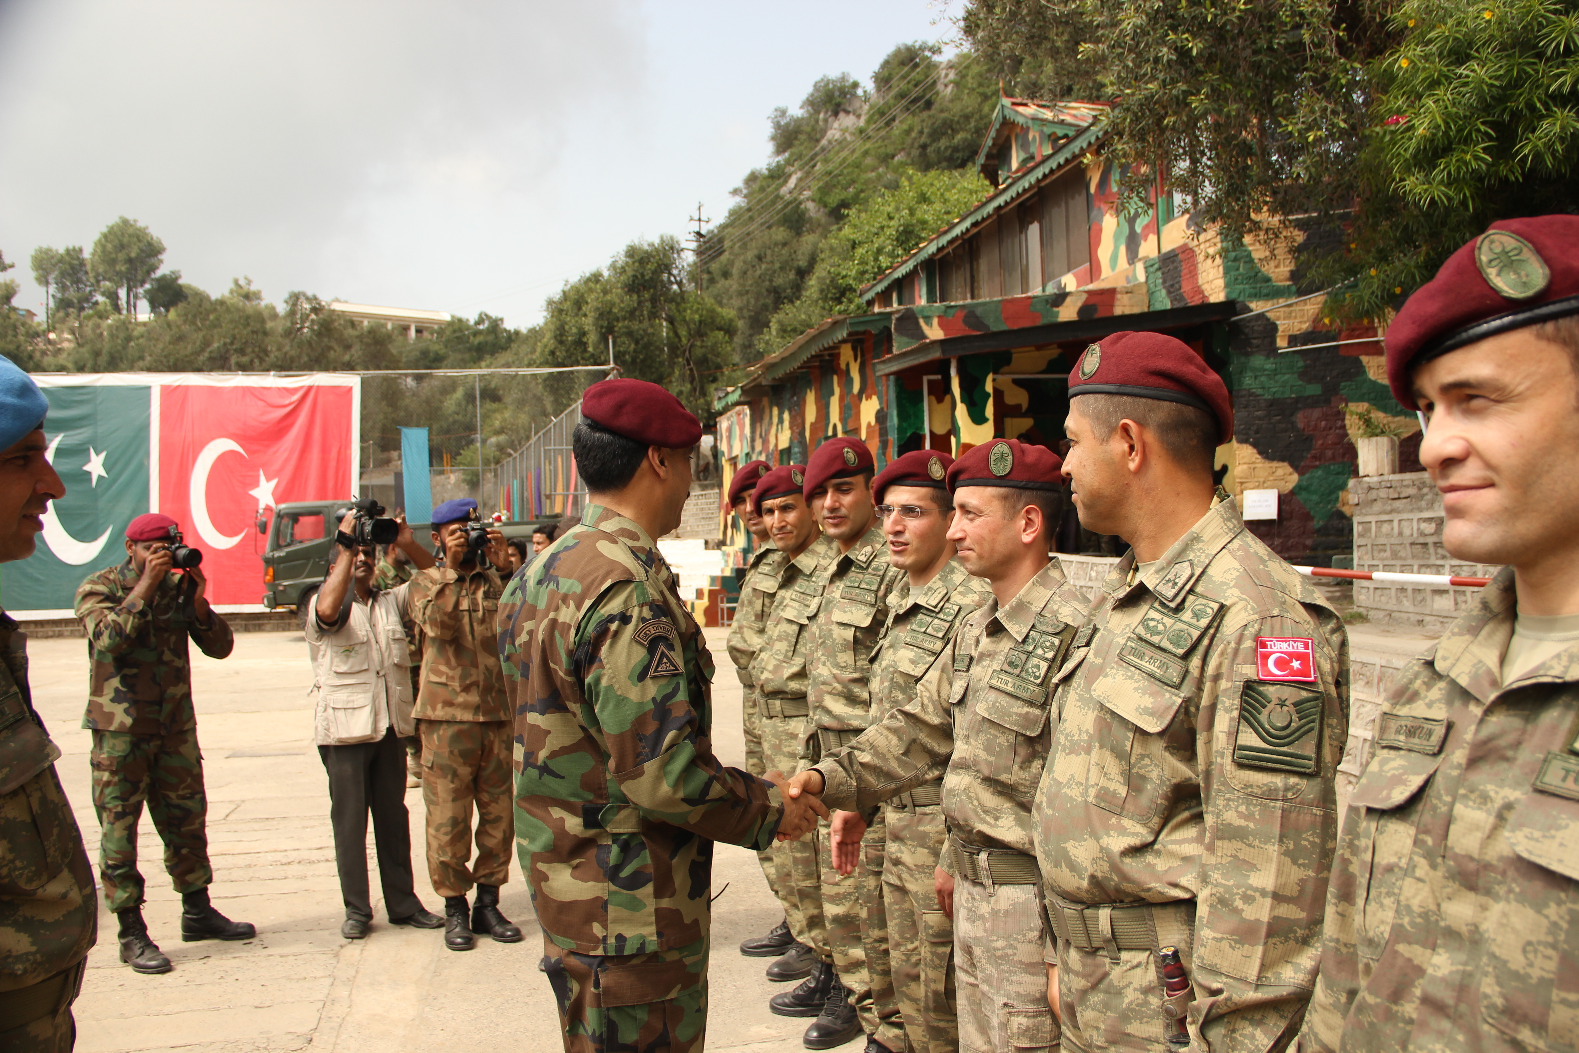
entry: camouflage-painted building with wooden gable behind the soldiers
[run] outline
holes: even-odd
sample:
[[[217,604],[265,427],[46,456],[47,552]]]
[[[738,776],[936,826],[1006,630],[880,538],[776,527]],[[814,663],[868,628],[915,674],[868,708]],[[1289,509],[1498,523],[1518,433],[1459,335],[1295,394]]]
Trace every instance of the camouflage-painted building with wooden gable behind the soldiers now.
[[[1377,332],[1320,317],[1323,290],[1295,264],[1320,232],[1285,221],[1224,243],[1153,175],[1108,159],[1105,117],[1101,103],[1000,99],[977,156],[992,193],[864,289],[870,314],[813,327],[718,398],[725,486],[734,464],[804,461],[832,436],[867,442],[880,469],[993,437],[1056,448],[1086,344],[1156,330],[1233,393],[1224,485],[1279,491],[1277,519],[1251,529],[1293,562],[1348,557],[1361,429],[1402,433],[1399,470],[1420,469],[1420,428],[1388,393]],[[1138,213],[1120,208],[1129,180],[1146,180]]]

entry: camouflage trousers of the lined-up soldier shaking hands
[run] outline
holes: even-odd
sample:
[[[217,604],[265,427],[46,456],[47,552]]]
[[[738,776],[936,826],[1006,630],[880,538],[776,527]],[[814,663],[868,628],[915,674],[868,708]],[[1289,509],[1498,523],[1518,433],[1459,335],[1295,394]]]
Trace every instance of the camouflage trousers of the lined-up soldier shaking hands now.
[[[1034,884],[954,881],[954,968],[960,1048],[1031,1053],[1058,1045],[1047,1004],[1041,892]]]

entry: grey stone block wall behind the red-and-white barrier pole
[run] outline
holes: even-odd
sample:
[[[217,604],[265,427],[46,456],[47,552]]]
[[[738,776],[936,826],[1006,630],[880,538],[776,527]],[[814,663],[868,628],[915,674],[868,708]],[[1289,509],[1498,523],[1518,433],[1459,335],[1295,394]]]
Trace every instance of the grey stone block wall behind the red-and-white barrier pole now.
[[[1355,570],[1491,578],[1500,570],[1454,560],[1442,546],[1442,496],[1424,472],[1374,475],[1348,485],[1355,504]],[[1473,587],[1355,583],[1355,606],[1372,622],[1442,631],[1468,609]]]

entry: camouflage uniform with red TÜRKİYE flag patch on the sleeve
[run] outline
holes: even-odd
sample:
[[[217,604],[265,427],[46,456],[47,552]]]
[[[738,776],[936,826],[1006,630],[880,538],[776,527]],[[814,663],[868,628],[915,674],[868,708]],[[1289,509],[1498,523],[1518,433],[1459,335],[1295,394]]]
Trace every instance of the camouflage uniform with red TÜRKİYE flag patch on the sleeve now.
[[[1036,797],[1064,1045],[1282,1048],[1320,955],[1348,731],[1337,614],[1214,505],[1108,575],[1058,669]],[[1194,991],[1165,1002],[1159,946]]]

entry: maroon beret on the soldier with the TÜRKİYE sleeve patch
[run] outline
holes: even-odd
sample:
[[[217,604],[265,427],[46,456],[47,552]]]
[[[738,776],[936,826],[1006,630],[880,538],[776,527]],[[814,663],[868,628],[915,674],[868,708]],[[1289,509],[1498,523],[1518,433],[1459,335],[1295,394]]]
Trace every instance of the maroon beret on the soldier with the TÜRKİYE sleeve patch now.
[[[1069,376],[1077,395],[1134,395],[1203,409],[1217,445],[1233,440],[1233,403],[1222,377],[1191,346],[1165,333],[1112,333],[1090,344]]]

